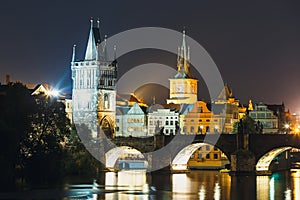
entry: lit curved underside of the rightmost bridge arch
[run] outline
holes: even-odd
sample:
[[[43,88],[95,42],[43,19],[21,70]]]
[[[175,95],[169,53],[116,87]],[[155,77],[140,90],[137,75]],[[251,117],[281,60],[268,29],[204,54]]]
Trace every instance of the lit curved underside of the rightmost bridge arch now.
[[[293,147],[279,147],[272,149],[271,151],[268,151],[266,154],[264,154],[262,157],[259,158],[259,160],[256,163],[256,171],[258,173],[269,171],[270,164],[272,160],[279,154],[291,150]]]

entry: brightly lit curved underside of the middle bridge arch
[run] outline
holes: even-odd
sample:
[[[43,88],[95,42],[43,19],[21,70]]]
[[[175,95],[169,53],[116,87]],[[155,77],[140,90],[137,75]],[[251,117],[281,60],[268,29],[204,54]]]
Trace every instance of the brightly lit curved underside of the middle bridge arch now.
[[[200,147],[203,146],[214,146],[209,143],[204,143],[204,142],[199,142],[199,143],[193,143],[185,148],[183,148],[181,151],[179,151],[176,156],[172,159],[171,161],[171,170],[172,171],[186,171],[188,170],[188,161],[191,158],[192,154],[199,149]],[[220,149],[218,146],[217,147],[221,152],[224,152],[222,149]],[[226,155],[227,159],[229,160],[228,156]]]

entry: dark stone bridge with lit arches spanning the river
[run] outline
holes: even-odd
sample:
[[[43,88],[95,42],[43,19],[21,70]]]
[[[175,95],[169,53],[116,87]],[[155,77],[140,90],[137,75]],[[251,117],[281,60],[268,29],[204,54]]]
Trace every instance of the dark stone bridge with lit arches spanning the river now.
[[[294,134],[199,134],[157,135],[149,138],[115,138],[115,145],[135,149],[148,161],[148,171],[168,166],[171,171],[188,170],[187,162],[193,152],[210,144],[220,149],[231,162],[233,174],[269,174],[272,160],[292,148],[300,149],[300,135]],[[108,168],[113,168],[120,150],[106,153]],[[116,153],[114,153],[114,151]],[[117,155],[116,155],[117,154]],[[114,159],[111,159],[114,155]]]

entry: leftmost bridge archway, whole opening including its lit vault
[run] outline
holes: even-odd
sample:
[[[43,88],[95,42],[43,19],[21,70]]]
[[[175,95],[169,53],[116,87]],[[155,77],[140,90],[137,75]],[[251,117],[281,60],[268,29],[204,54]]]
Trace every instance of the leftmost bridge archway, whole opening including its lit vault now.
[[[146,170],[148,162],[144,155],[129,146],[116,147],[105,154],[105,166],[110,171]]]

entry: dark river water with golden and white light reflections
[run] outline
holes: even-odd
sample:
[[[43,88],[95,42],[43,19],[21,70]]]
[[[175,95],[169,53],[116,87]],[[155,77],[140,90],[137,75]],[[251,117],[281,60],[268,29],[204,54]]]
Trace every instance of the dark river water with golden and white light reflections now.
[[[200,170],[181,174],[103,172],[97,180],[69,179],[56,187],[0,193],[0,199],[300,200],[300,170],[257,177]]]

